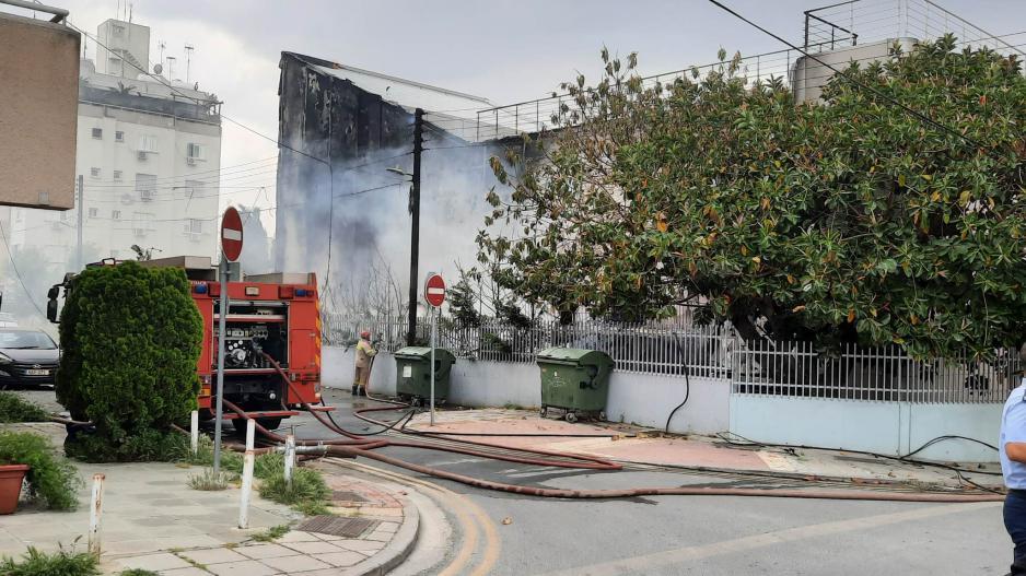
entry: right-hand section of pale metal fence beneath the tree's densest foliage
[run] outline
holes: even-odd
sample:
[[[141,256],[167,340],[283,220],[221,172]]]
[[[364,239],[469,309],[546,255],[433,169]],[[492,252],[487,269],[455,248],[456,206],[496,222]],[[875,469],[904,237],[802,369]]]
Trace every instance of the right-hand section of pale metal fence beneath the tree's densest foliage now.
[[[735,352],[734,393],[846,400],[1004,402],[1018,384],[1018,355],[916,360],[899,346],[844,345],[836,355],[809,342],[747,342]]]

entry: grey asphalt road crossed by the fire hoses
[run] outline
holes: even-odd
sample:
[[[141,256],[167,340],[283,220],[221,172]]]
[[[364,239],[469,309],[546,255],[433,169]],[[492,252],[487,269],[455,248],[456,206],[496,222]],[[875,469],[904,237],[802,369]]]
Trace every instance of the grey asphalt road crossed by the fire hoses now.
[[[21,392],[53,405],[53,391]],[[327,397],[336,420],[355,433],[373,432],[351,416],[348,390]],[[384,414],[387,415],[387,414]],[[383,415],[383,416],[384,416]],[[293,419],[296,435],[329,438],[310,415]],[[225,422],[226,430],[232,428]],[[758,480],[671,471],[586,472],[552,470],[411,448],[385,454],[445,470],[509,483],[551,487],[628,487]],[[359,459],[383,470],[397,471]],[[495,575],[1003,575],[1011,542],[1001,507],[981,504],[836,502],[739,497],[645,497],[618,501],[541,499],[427,480],[451,493],[441,501],[455,542],[445,561],[420,566],[439,574],[462,551],[473,561],[457,574]],[[466,504],[460,504],[460,502]],[[460,509],[466,508],[466,509]],[[466,516],[477,510],[487,530]],[[470,514],[468,514],[470,513]],[[503,524],[508,518],[509,524]],[[463,524],[462,524],[463,522]],[[470,534],[469,531],[475,531]],[[489,530],[494,538],[489,538]],[[469,546],[469,548],[468,548]],[[409,567],[405,571],[409,573]],[[413,571],[416,572],[416,571]]]

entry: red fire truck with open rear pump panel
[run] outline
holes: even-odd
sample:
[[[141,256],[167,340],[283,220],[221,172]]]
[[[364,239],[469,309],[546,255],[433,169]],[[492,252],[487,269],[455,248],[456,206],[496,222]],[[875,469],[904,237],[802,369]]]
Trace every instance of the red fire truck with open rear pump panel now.
[[[116,266],[107,259],[89,266]],[[203,317],[203,346],[197,363],[202,388],[198,402],[200,418],[212,419],[218,381],[218,325],[221,284],[217,268],[207,257],[162,258],[139,262],[145,267],[183,268],[191,284],[193,302]],[[56,298],[60,286],[50,289],[48,316],[57,320]],[[313,273],[247,275],[228,283],[229,309],[225,319],[224,398],[272,430],[293,416],[303,402],[320,402],[320,305]],[[281,374],[264,355],[272,357],[288,374]],[[225,410],[236,430],[245,421]]]

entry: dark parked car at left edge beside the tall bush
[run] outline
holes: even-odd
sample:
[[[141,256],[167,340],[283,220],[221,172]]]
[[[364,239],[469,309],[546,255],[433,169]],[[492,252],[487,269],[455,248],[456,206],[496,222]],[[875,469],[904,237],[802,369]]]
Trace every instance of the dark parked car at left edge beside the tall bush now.
[[[0,388],[53,385],[60,350],[46,332],[0,328]]]

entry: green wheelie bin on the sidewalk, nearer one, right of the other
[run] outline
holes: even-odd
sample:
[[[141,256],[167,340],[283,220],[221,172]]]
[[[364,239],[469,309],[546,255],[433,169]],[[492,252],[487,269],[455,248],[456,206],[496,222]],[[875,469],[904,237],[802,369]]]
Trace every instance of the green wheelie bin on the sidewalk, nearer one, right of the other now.
[[[550,348],[538,353],[541,368],[541,418],[549,408],[564,411],[567,422],[579,416],[606,419],[613,358],[597,350]]]

